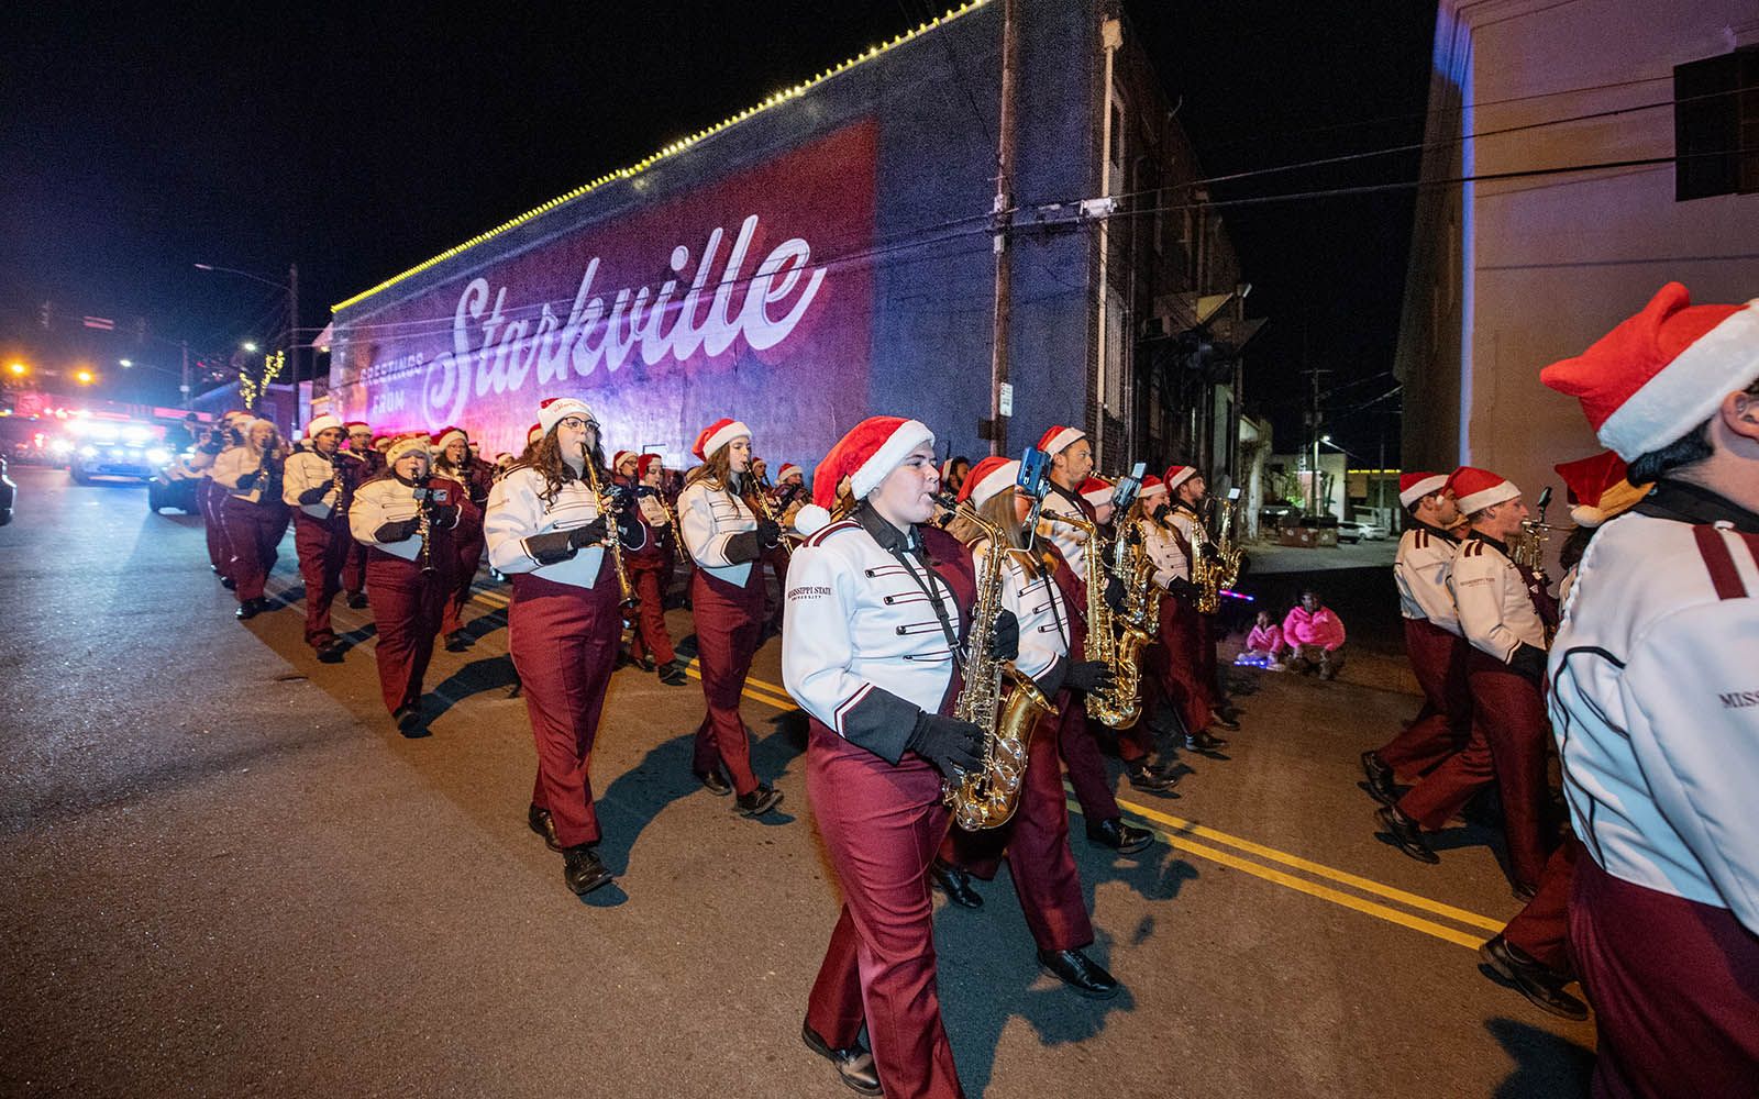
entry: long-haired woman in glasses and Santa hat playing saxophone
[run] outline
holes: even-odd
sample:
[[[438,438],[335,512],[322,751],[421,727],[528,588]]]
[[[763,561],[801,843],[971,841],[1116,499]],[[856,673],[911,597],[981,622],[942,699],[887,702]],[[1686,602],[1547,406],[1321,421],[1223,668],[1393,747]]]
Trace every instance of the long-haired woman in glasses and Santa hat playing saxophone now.
[[[598,420],[584,401],[551,397],[544,434],[489,492],[489,563],[514,580],[508,649],[524,684],[538,774],[528,821],[561,851],[563,883],[589,893],[612,879],[598,858],[593,742],[623,640],[623,593],[610,538],[644,545],[639,524],[605,515],[591,478],[609,480]],[[593,462],[593,468],[588,468]],[[609,484],[605,484],[609,494]]]

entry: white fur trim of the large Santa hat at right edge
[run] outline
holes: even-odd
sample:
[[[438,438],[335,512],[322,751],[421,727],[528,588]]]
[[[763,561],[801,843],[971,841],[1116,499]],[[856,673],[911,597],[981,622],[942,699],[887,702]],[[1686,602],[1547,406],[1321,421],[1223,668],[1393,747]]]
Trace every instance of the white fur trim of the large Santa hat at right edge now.
[[[1601,424],[1601,445],[1627,462],[1708,420],[1724,394],[1759,378],[1759,297],[1673,357]]]

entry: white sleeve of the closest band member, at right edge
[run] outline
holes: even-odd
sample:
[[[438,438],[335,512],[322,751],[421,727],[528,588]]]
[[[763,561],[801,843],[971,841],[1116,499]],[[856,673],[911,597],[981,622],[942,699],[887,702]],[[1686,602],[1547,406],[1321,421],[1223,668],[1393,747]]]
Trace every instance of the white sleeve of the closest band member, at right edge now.
[[[1655,807],[1741,925],[1759,934],[1759,614],[1699,603],[1638,642],[1618,689]]]

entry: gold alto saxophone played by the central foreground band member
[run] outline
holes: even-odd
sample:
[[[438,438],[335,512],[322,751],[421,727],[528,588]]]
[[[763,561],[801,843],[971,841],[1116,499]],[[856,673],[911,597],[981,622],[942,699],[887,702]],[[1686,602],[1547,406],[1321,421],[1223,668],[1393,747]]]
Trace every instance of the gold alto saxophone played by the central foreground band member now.
[[[1025,756],[1033,742],[1033,728],[1040,716],[1055,714],[1031,679],[1020,675],[1011,663],[990,656],[990,638],[996,619],[1003,612],[1003,584],[1008,568],[1008,542],[992,522],[980,519],[973,508],[960,510],[989,536],[983,554],[983,571],[978,573],[978,598],[971,610],[971,633],[966,642],[966,663],[960,666],[964,688],[953,702],[953,717],[983,730],[983,765],[957,779],[941,782],[941,800],[953,811],[953,821],[967,832],[999,828],[1020,804],[1020,784],[1025,779]],[[1004,681],[1013,682],[1013,693],[1003,698]]]

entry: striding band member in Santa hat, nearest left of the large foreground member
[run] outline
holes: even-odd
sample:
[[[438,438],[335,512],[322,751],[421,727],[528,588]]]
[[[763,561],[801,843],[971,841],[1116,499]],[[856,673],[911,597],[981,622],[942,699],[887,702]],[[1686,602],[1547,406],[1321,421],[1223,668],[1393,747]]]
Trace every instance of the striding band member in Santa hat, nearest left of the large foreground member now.
[[[1544,821],[1544,656],[1555,605],[1543,580],[1509,557],[1527,505],[1511,482],[1472,466],[1449,478],[1471,533],[1448,575],[1465,635],[1465,675],[1472,695],[1467,746],[1377,811],[1393,846],[1418,862],[1441,862],[1423,828],[1448,823],[1483,786],[1502,788],[1502,826],[1518,897],[1530,899],[1555,846]]]

